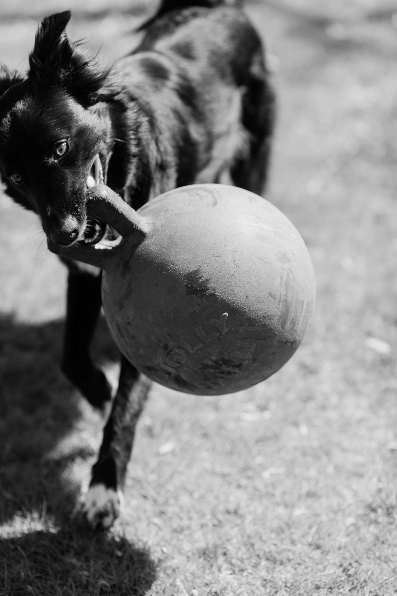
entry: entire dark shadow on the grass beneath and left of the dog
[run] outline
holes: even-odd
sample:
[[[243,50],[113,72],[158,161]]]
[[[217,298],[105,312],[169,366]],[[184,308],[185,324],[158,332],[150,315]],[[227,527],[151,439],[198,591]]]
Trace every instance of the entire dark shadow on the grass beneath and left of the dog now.
[[[59,370],[61,337],[61,322],[0,317],[0,593],[145,594],[148,552],[70,517],[80,486],[68,472],[92,449],[58,449],[81,417]],[[102,359],[116,358],[104,324],[98,339]]]

